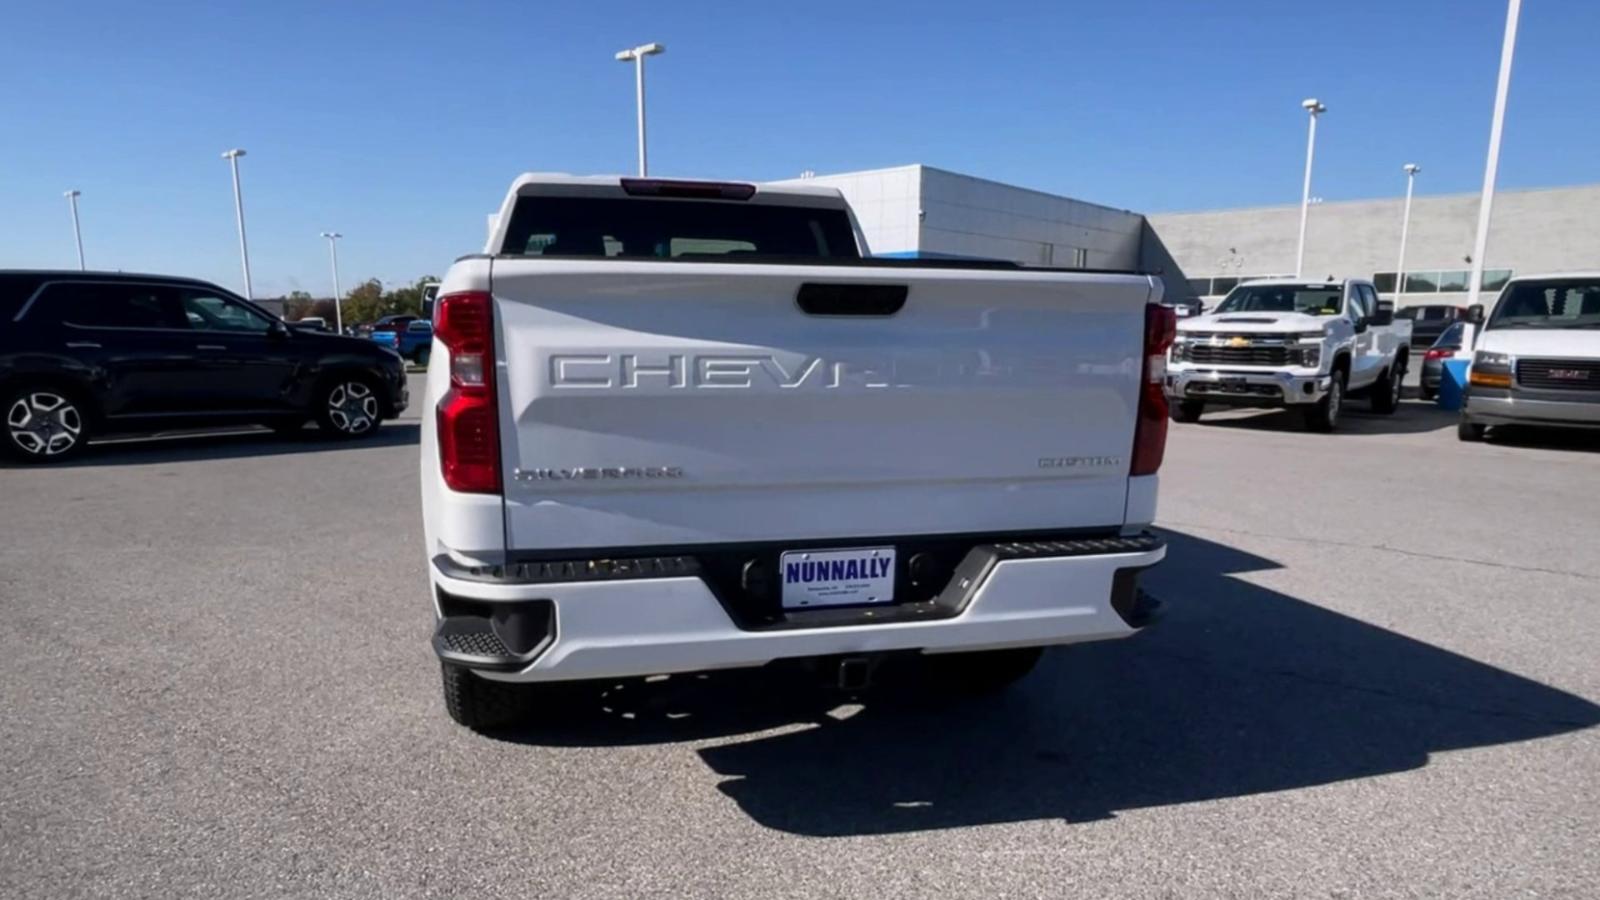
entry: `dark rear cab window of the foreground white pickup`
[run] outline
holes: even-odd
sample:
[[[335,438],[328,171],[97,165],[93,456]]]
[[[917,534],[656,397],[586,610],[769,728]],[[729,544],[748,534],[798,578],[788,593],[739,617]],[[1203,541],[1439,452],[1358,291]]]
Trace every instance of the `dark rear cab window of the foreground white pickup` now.
[[[523,197],[512,208],[501,253],[589,259],[859,256],[843,210],[613,197]]]

